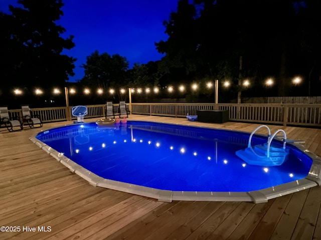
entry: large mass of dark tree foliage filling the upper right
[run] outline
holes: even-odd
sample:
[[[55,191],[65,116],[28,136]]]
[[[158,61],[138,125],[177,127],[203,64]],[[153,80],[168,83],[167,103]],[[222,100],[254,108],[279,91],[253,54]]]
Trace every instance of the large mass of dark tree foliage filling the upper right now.
[[[177,11],[164,22],[169,38],[155,43],[166,54],[159,70],[175,76],[173,81],[212,77],[237,84],[245,78],[262,82],[274,76],[279,95],[287,94],[294,75],[316,84],[321,75],[320,4],[180,0]],[[177,71],[183,73],[181,79]]]

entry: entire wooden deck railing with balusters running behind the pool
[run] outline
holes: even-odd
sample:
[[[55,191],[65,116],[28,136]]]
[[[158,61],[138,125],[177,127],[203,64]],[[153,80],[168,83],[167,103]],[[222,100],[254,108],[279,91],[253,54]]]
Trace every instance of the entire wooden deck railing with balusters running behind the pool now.
[[[127,103],[128,104],[128,103]],[[43,122],[76,119],[71,116],[71,107],[32,108],[33,114],[41,116]],[[87,105],[85,118],[103,117],[105,104]],[[282,125],[321,126],[321,104],[255,104],[255,103],[132,103],[132,114],[186,117],[196,115],[197,110],[228,110],[232,121],[274,123]],[[118,104],[113,104],[118,112]],[[9,110],[11,117],[21,117],[20,109]]]

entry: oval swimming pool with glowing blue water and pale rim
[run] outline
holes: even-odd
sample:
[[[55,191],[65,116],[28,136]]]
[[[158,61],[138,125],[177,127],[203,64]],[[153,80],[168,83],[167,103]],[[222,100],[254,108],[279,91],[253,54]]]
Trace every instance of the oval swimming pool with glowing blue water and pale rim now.
[[[93,185],[163,201],[262,202],[317,185],[320,165],[313,153],[288,144],[284,164],[250,165],[235,155],[248,138],[249,133],[232,130],[128,121],[73,124],[31,140]],[[261,144],[266,137],[255,135],[252,142]]]

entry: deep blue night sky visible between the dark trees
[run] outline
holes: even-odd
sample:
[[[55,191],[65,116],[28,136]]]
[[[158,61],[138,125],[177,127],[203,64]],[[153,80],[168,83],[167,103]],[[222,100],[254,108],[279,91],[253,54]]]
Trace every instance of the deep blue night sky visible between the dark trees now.
[[[166,40],[164,20],[177,9],[178,0],[63,0],[64,15],[57,22],[66,28],[67,37],[74,35],[76,46],[64,54],[77,58],[75,76],[84,74],[81,64],[95,50],[124,56],[131,68],[162,57],[154,42]],[[20,6],[17,0],[0,0],[0,11],[9,12],[8,5]]]

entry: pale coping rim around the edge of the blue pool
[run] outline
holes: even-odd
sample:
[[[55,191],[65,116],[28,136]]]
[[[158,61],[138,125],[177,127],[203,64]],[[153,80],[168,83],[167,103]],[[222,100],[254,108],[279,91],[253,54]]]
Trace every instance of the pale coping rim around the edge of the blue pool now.
[[[152,122],[157,122],[157,121],[152,121]],[[166,123],[166,122],[161,122],[161,123]],[[167,124],[170,124],[170,123],[167,123]],[[176,125],[182,125],[182,124],[176,124]],[[208,128],[219,129],[215,127],[208,127]],[[231,129],[227,129],[227,130],[231,130]],[[37,131],[31,137],[29,137],[29,139],[34,144],[36,144],[37,146],[42,148],[44,151],[46,151],[48,154],[53,156],[57,161],[61,162],[63,165],[68,167],[71,172],[74,172],[77,175],[84,178],[85,180],[87,180],[91,185],[119,190],[119,191],[128,192],[136,195],[151,197],[162,202],[172,202],[173,200],[186,200],[186,201],[252,201],[254,203],[263,203],[263,202],[267,202],[268,199],[290,194],[309,187],[321,185],[321,158],[316,154],[314,154],[313,152],[310,152],[307,148],[305,148],[301,144],[301,141],[289,142],[288,144],[296,146],[297,148],[299,148],[301,151],[303,151],[305,154],[307,154],[309,157],[312,158],[312,165],[310,167],[308,175],[305,178],[283,183],[274,187],[268,187],[268,188],[264,188],[256,191],[248,191],[248,192],[171,191],[171,190],[156,189],[152,187],[145,187],[145,186],[125,183],[125,182],[120,182],[120,181],[115,181],[115,180],[100,177],[95,173],[82,167],[81,165],[77,164],[70,158],[63,155],[61,152],[58,152],[54,148],[47,145],[46,143],[38,140],[36,136],[39,132],[42,132],[42,131],[43,130]],[[231,130],[231,131],[234,131],[234,130]]]

